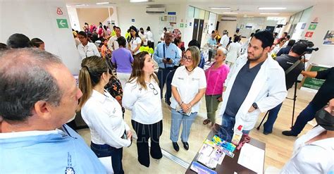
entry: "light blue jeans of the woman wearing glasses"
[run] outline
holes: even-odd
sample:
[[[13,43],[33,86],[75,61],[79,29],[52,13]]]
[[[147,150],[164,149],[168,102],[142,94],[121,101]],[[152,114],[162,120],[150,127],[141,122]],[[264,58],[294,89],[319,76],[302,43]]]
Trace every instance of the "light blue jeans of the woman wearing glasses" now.
[[[175,111],[172,108],[172,123],[171,123],[171,140],[172,142],[178,142],[178,135],[180,132],[180,126],[182,123],[182,133],[181,141],[187,142],[190,135],[190,128],[194,119],[197,116],[197,112],[191,113],[190,116],[187,116],[184,113]]]

